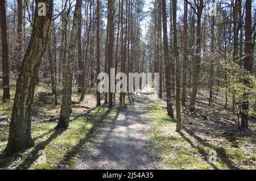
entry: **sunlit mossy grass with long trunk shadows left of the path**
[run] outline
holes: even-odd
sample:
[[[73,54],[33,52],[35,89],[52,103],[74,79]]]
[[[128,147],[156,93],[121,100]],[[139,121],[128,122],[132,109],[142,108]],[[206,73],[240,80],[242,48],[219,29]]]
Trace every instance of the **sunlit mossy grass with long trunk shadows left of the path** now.
[[[32,122],[32,137],[35,140],[34,148],[24,151],[12,158],[0,158],[0,167],[5,169],[73,169],[77,154],[81,151],[80,144],[91,139],[90,133],[97,129],[102,120],[114,116],[117,109],[108,110],[108,107],[97,107],[86,116],[79,116],[70,121],[69,128],[64,131],[55,131],[56,121]],[[7,129],[1,128],[7,138]],[[1,143],[1,149],[6,146],[7,140]],[[46,163],[39,164],[38,151],[46,153]]]

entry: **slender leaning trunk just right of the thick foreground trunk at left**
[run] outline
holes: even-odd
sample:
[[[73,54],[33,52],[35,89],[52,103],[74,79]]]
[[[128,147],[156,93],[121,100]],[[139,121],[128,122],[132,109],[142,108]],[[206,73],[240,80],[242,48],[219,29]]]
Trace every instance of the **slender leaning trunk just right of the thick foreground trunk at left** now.
[[[77,32],[79,27],[79,18],[81,16],[81,6],[82,6],[82,0],[77,0],[74,15],[73,15],[73,27],[72,27],[70,43],[69,43],[68,64],[67,64],[67,70],[65,73],[63,98],[61,103],[60,119],[56,127],[57,129],[67,129],[69,125],[69,116],[71,112],[73,64],[75,61],[75,47],[76,47]]]

